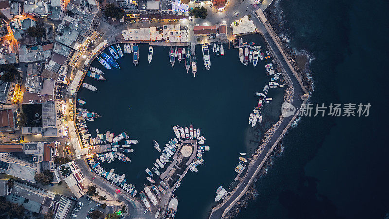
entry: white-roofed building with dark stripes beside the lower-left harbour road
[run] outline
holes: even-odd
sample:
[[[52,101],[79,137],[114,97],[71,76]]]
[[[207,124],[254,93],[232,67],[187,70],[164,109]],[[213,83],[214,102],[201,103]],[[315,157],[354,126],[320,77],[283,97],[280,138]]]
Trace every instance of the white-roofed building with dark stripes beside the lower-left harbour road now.
[[[77,199],[85,195],[83,192],[85,187],[82,184],[85,178],[82,175],[80,168],[76,163],[74,163],[74,161],[63,164],[62,166],[58,167],[58,169],[61,173],[62,179],[69,186],[71,192]]]

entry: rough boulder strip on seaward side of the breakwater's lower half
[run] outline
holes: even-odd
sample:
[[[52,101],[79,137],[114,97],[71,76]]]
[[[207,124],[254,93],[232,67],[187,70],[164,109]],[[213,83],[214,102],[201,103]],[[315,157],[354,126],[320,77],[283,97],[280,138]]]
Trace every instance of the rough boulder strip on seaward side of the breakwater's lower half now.
[[[280,156],[283,152],[283,146],[281,143],[278,143],[271,153],[270,157],[266,160],[265,164],[262,166],[259,174],[255,178],[255,182],[260,178],[267,174],[267,171],[271,165],[273,165],[273,159],[275,157]],[[248,201],[255,200],[258,191],[255,189],[254,184],[251,184],[248,188],[246,194],[234,205],[233,208],[226,214],[225,218],[236,218],[241,212],[242,208],[246,208],[248,206]]]

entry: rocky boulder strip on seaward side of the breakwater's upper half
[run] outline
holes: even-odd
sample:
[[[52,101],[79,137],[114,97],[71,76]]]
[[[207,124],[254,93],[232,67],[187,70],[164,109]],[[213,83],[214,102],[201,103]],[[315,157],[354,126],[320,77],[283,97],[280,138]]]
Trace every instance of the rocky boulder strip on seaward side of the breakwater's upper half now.
[[[285,26],[281,21],[278,20],[276,13],[274,12],[274,7],[270,10],[264,11],[267,21],[271,24],[270,31],[274,33],[274,36],[277,42],[282,47],[284,54],[286,55],[289,63],[292,65],[293,69],[299,75],[305,89],[309,92],[313,91],[312,84],[313,81],[310,78],[312,71],[308,68],[309,60],[303,55],[296,55],[297,52],[289,47],[288,41],[283,37],[282,32],[285,31]],[[280,39],[280,36],[282,39]]]

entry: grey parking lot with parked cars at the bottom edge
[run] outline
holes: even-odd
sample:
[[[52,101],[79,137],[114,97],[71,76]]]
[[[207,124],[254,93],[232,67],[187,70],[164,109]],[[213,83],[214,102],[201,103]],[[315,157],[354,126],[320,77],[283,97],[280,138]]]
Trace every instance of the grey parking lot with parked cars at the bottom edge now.
[[[71,211],[70,214],[70,219],[72,218],[80,218],[80,219],[89,219],[89,213],[92,212],[93,210],[96,211],[101,211],[104,214],[106,214],[107,207],[106,209],[102,209],[99,207],[100,204],[97,203],[96,201],[93,201],[92,199],[88,198],[88,196],[83,196],[78,199],[76,202],[76,205],[74,206],[73,210]]]

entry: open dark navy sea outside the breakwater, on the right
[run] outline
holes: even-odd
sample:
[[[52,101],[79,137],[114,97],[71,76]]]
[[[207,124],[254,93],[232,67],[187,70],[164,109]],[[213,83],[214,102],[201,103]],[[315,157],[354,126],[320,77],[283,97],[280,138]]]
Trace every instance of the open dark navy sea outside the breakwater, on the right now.
[[[275,5],[290,46],[314,58],[311,103],[370,103],[370,115],[302,118],[239,218],[388,217],[389,2]]]

